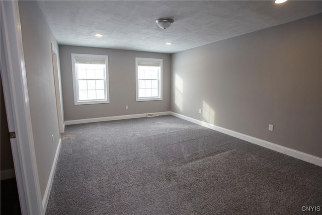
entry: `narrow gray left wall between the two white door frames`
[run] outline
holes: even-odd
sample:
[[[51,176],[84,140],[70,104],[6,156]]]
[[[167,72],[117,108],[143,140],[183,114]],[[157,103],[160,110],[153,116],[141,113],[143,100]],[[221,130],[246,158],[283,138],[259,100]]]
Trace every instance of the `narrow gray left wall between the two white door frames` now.
[[[57,50],[58,44],[36,1],[19,1],[19,12],[37,169],[43,197],[60,138],[51,55],[51,43]]]

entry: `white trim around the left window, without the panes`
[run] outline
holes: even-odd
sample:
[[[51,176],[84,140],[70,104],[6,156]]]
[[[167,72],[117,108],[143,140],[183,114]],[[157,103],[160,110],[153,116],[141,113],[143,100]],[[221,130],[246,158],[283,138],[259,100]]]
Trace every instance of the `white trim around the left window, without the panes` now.
[[[78,90],[76,83],[76,73],[75,73],[75,57],[84,57],[84,58],[105,58],[105,88],[106,88],[106,100],[86,100],[78,101]],[[110,89],[109,89],[109,68],[108,68],[108,55],[97,55],[97,54],[71,54],[71,67],[72,67],[72,84],[74,90],[74,104],[75,105],[87,105],[87,104],[103,104],[110,103]]]

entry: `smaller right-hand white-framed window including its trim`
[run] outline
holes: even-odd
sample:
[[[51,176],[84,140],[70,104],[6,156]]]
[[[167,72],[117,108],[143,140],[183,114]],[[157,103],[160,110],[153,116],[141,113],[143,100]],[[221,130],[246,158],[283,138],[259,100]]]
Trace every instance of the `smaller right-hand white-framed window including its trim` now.
[[[136,101],[162,100],[162,59],[135,57]]]

